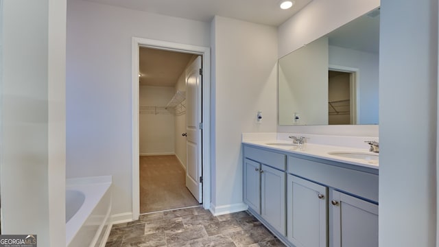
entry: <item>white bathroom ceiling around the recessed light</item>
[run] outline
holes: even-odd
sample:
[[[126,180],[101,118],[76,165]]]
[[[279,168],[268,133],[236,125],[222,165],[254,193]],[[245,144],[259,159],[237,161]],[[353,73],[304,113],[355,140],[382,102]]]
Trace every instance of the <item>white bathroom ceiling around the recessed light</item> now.
[[[281,0],[86,0],[132,10],[210,22],[219,15],[278,26],[312,0],[296,0],[289,10],[281,10]]]

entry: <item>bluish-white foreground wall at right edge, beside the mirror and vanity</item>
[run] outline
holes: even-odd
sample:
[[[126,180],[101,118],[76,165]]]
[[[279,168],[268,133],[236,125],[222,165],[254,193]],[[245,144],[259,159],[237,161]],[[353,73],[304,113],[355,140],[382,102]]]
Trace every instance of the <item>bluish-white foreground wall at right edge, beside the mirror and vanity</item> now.
[[[380,51],[379,246],[438,246],[438,1],[383,0]]]

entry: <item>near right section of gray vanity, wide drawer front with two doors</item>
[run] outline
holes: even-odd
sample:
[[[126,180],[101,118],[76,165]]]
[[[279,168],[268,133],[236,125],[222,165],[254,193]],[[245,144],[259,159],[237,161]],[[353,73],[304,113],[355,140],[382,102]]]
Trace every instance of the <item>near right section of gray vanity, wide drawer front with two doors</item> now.
[[[287,166],[289,242],[296,247],[378,246],[378,205],[369,202],[378,199],[376,170],[296,156],[288,156]]]

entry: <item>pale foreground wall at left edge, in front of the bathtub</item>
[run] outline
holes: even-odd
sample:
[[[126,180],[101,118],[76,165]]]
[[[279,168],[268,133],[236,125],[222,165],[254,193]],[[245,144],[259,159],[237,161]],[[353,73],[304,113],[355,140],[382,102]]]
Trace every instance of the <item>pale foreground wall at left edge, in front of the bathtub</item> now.
[[[67,2],[2,4],[1,230],[65,246]]]

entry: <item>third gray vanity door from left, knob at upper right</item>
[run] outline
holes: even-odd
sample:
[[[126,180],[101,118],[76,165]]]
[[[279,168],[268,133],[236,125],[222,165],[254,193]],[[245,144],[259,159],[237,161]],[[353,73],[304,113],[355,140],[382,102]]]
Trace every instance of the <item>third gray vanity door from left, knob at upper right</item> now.
[[[287,178],[287,238],[297,247],[327,246],[327,187]]]

